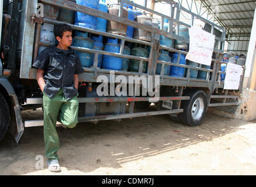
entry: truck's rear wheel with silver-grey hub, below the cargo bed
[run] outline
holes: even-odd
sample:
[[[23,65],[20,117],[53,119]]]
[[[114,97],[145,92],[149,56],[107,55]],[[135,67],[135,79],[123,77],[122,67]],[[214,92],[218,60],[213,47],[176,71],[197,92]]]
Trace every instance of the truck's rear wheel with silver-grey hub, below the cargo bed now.
[[[190,99],[181,102],[184,112],[178,114],[178,120],[192,127],[198,126],[206,114],[207,96],[203,91],[188,91],[184,96],[190,96]]]

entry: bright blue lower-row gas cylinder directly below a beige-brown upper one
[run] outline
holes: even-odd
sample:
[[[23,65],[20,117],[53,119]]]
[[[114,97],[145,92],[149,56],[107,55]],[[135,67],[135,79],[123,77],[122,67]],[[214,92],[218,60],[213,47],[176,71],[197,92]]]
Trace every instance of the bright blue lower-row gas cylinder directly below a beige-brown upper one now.
[[[113,39],[109,37],[108,43],[104,47],[104,51],[119,53],[120,44],[118,43],[118,39]],[[102,68],[109,69],[109,70],[121,70],[122,58],[103,55]]]

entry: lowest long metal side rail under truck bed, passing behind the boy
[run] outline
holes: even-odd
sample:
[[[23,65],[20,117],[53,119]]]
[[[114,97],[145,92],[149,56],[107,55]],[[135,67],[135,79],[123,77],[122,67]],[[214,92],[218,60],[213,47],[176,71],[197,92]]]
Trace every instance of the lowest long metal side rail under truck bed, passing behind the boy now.
[[[92,117],[78,117],[78,122],[97,122],[101,120],[115,120],[115,119],[125,119],[131,117],[143,117],[143,116],[154,116],[154,115],[165,115],[171,113],[181,113],[183,109],[176,109],[176,110],[160,110],[160,111],[153,111],[153,112],[138,112],[138,113],[126,113],[122,115],[105,115],[105,116],[92,116]],[[57,124],[61,124],[57,122]],[[43,126],[43,120],[30,120],[25,121],[25,127],[36,127],[36,126]]]

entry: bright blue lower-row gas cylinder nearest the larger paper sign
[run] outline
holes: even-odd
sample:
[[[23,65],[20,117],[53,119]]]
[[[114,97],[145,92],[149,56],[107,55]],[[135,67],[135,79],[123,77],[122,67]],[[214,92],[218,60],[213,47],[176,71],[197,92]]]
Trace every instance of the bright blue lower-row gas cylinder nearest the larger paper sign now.
[[[181,54],[181,58],[178,62],[178,53],[172,54],[172,63],[186,64],[185,54]],[[172,65],[170,75],[171,77],[184,77],[185,68]]]

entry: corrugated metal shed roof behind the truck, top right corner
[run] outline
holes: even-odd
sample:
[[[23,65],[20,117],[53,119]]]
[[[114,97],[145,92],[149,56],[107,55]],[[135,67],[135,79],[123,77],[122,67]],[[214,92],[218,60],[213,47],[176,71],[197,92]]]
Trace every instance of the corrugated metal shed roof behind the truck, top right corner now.
[[[256,0],[200,0],[216,13],[216,19],[230,34],[251,33]]]

